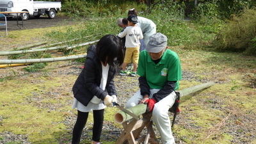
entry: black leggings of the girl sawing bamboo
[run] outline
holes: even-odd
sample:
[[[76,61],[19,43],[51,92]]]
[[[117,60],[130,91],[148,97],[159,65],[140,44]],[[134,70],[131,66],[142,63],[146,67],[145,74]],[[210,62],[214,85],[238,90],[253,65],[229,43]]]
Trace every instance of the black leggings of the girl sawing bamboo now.
[[[89,113],[81,112],[77,110],[77,120],[74,125],[72,134],[72,144],[79,144],[84,125],[87,122]],[[92,140],[100,141],[100,134],[102,132],[102,125],[104,120],[104,109],[93,111],[93,130],[92,130]]]

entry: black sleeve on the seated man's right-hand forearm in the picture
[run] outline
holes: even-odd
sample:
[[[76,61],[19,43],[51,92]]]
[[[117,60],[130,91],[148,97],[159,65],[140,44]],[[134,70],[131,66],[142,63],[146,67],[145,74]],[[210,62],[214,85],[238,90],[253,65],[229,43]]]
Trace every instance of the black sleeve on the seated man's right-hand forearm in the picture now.
[[[153,98],[159,102],[159,100],[164,99],[167,95],[170,95],[170,93],[175,90],[177,81],[166,81],[163,88],[159,90],[157,93],[154,93]]]

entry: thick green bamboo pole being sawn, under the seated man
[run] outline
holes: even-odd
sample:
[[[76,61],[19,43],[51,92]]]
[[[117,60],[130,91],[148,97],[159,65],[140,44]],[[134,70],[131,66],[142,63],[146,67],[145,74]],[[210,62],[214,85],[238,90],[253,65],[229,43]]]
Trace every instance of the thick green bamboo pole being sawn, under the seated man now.
[[[185,88],[184,90],[180,90],[180,97],[183,97],[185,95],[189,95],[190,93],[197,92],[199,90],[202,90],[204,88],[208,88],[214,84],[213,81],[210,81],[208,83],[203,83],[203,84],[198,84],[196,86],[192,86],[190,88]],[[131,111],[135,115],[139,116],[142,115],[143,113],[146,113],[147,110],[147,104],[138,104],[137,106],[134,106],[132,108],[128,108],[128,111]],[[115,121],[118,124],[122,124],[123,122],[126,122],[127,120],[131,120],[132,116],[128,115],[124,111],[119,111],[118,113],[115,114],[114,116]]]

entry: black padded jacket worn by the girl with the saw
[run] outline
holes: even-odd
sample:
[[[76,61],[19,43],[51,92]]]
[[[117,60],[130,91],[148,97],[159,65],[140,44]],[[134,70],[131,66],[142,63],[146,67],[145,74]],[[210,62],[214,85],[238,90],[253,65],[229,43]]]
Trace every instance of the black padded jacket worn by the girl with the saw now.
[[[116,74],[116,69],[109,65],[108,80],[106,90],[102,90],[100,80],[102,77],[102,65],[99,58],[95,55],[96,45],[92,45],[87,49],[86,61],[84,68],[76,79],[72,91],[74,97],[87,106],[93,96],[96,95],[99,99],[104,100],[106,95],[116,95],[113,78]]]

